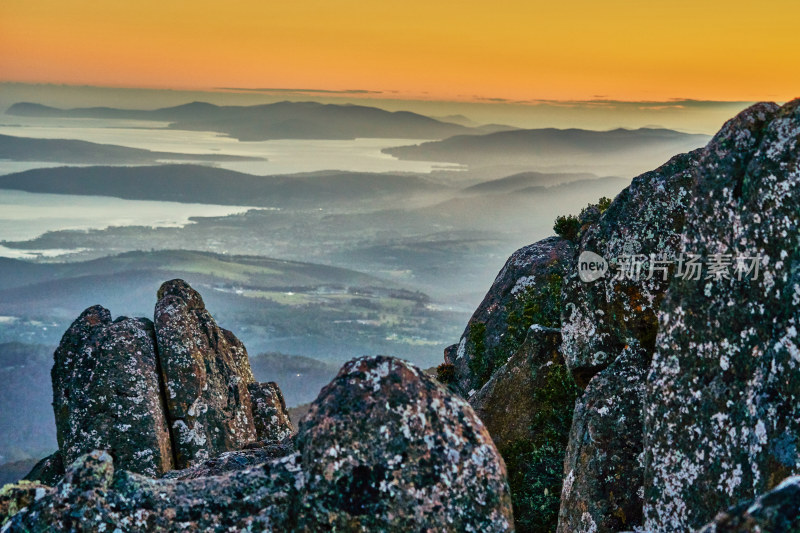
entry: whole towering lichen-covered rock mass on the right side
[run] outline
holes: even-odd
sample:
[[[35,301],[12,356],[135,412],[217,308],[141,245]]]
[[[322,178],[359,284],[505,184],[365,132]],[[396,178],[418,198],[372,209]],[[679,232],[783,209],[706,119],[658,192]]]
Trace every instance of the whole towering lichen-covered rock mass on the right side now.
[[[564,461],[559,531],[687,531],[800,471],[798,186],[800,101],[758,104],[705,148],[634,179],[606,210],[584,210],[569,235],[576,246],[548,265],[560,272],[557,295],[526,274],[550,254],[525,251],[558,240],[509,259],[445,361],[517,489],[530,460],[505,442],[544,406],[520,392],[531,364],[504,347],[507,310],[560,309],[543,325],[560,328],[557,351],[584,390],[566,449],[553,450]],[[580,276],[589,252],[609,265],[594,281]],[[520,285],[526,293],[514,298]],[[517,422],[503,423],[512,412]],[[534,483],[549,475],[537,472]],[[517,528],[536,530],[523,512],[515,508]],[[714,527],[783,523],[747,512],[734,508],[738,521]]]

